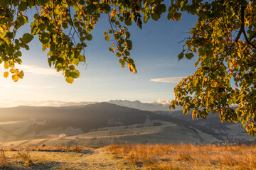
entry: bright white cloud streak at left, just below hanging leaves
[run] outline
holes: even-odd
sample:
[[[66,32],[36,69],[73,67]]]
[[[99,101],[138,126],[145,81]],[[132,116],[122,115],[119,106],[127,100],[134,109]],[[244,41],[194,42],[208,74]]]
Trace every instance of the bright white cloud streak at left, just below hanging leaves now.
[[[55,69],[43,68],[38,66],[21,64],[18,66],[19,69],[23,69],[24,72],[35,75],[44,75],[44,76],[60,76],[60,72],[56,72]]]

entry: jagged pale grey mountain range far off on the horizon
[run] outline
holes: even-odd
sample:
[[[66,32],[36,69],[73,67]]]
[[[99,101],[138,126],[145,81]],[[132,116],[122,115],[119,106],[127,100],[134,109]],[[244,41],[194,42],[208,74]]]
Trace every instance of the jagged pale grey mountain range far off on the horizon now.
[[[111,100],[108,103],[113,103],[119,106],[125,106],[128,108],[136,108],[142,111],[170,111],[169,105],[163,105],[161,103],[142,103],[140,101],[127,101],[127,100]],[[181,110],[178,107],[176,110]]]

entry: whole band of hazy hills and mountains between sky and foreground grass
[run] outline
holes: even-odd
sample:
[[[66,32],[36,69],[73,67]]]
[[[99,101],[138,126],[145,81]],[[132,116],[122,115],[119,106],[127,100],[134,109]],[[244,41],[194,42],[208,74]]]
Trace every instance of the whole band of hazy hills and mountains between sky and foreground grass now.
[[[139,101],[0,108],[0,145],[95,147],[122,143],[201,144],[255,140],[239,124],[220,123],[217,113],[210,114],[206,120],[192,120],[191,113],[183,115],[181,110],[166,108],[167,105]]]

